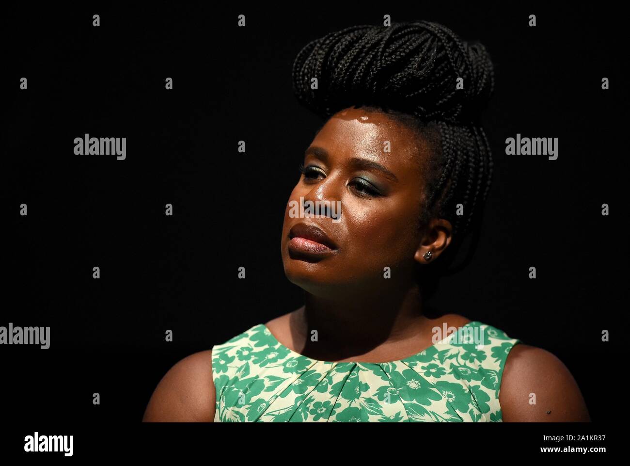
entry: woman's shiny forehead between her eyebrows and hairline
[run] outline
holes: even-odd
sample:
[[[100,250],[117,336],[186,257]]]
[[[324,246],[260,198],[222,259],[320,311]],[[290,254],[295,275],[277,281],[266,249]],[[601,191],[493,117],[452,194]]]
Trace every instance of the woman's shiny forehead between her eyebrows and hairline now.
[[[425,141],[413,129],[383,112],[364,108],[337,112],[312,145],[322,146],[336,156],[378,158],[380,163],[399,170],[420,166],[427,151]]]

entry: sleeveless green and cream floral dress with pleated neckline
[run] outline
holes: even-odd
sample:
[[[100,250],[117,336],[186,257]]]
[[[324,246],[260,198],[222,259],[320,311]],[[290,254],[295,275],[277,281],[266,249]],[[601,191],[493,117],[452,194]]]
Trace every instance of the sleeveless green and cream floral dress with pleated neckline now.
[[[260,323],[212,347],[214,422],[502,422],[501,375],[518,342],[473,321],[398,361],[330,362]]]

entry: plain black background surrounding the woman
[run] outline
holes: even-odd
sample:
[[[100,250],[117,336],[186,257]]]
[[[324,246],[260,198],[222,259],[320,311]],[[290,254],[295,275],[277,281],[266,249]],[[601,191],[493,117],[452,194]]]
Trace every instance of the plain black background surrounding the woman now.
[[[292,95],[292,62],[308,41],[387,13],[481,40],[495,63],[484,119],[495,177],[481,243],[430,305],[553,352],[593,421],[618,416],[628,257],[622,15],[442,3],[344,9],[5,12],[0,325],[51,330],[50,349],[0,347],[4,415],[139,422],[176,361],[302,305],[284,276],[280,233],[321,122]],[[517,132],[558,137],[558,160],[507,156],[505,139]],[[126,160],[76,156],[73,140],[84,133],[127,137]]]

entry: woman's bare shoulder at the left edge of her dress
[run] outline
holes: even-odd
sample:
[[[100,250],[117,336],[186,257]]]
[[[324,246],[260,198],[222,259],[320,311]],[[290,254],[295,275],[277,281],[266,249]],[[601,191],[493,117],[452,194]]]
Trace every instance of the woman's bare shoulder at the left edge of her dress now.
[[[212,350],[199,351],[169,369],[149,400],[143,422],[212,422],[215,389]]]

